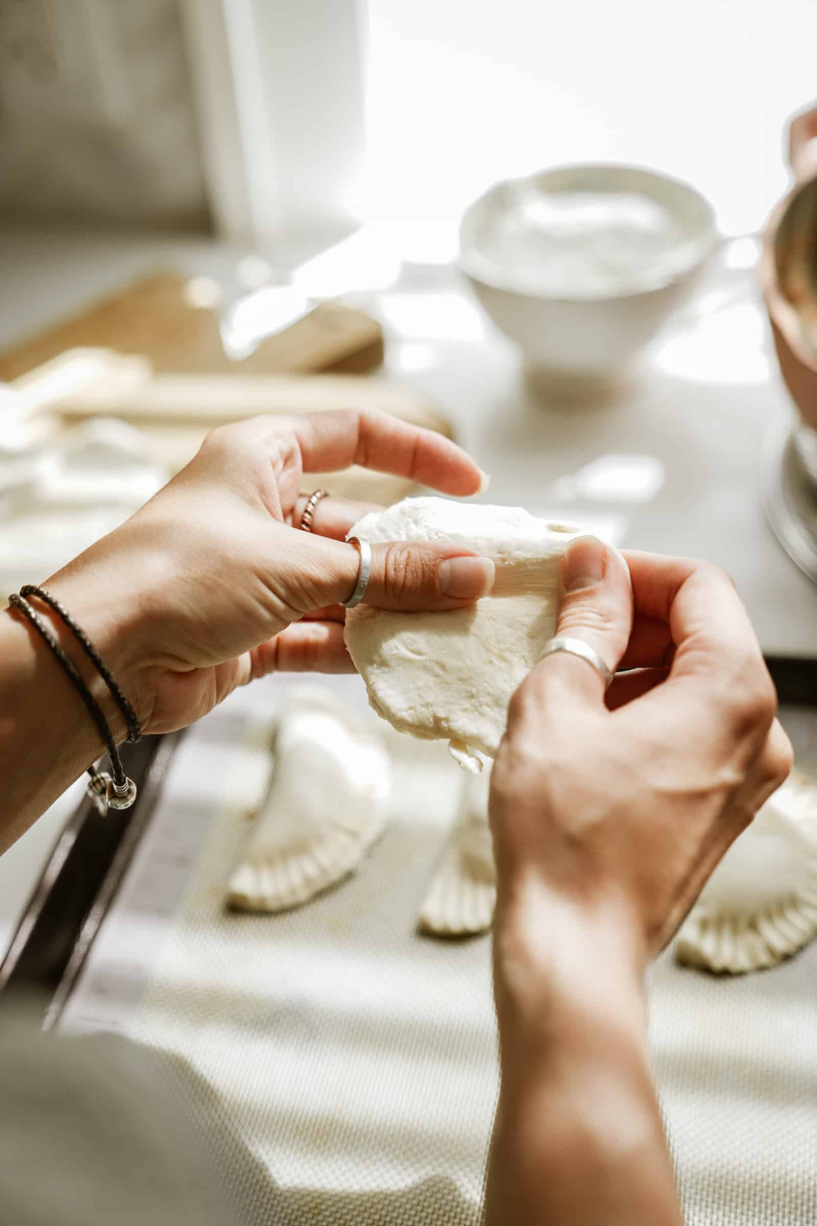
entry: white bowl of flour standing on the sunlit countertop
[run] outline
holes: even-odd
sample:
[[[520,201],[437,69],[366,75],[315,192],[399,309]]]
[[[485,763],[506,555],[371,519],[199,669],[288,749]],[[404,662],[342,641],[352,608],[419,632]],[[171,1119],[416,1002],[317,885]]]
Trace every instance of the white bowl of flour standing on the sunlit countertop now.
[[[666,221],[670,229],[657,238],[648,226],[643,238],[627,232],[614,243],[609,228],[597,230],[598,242],[608,243],[605,257],[617,259],[625,242],[643,242],[646,248],[636,256],[630,250],[632,265],[625,260],[600,273],[595,265],[573,265],[582,273],[573,278],[573,256],[568,253],[565,264],[557,237],[565,192],[582,192],[589,208],[598,197],[597,216],[605,208],[615,213],[625,202],[632,210],[638,207],[633,200],[641,200],[650,217]],[[549,228],[537,229],[543,210],[549,211]],[[592,217],[587,207],[585,213]],[[532,367],[562,376],[609,378],[687,303],[717,244],[712,206],[687,184],[631,166],[571,166],[499,183],[474,201],[461,223],[458,265]]]

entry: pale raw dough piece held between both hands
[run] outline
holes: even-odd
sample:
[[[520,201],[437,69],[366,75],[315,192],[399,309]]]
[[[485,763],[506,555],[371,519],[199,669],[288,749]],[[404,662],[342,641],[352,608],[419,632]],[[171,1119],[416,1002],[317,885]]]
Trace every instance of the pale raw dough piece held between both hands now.
[[[430,541],[496,563],[495,593],[445,613],[393,613],[359,604],[345,641],[371,706],[398,732],[447,739],[461,765],[496,755],[513,691],[556,628],[559,565],[581,530],[521,508],[407,498],[364,516],[350,536],[372,544]]]

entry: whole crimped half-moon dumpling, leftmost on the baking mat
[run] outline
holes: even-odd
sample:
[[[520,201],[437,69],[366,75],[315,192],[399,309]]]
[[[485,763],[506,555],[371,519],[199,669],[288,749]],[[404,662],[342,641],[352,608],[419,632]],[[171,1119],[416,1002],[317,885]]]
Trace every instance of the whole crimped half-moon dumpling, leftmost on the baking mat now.
[[[285,911],[352,873],[383,829],[390,785],[377,733],[328,690],[295,690],[276,736],[272,786],[230,878],[230,906]]]

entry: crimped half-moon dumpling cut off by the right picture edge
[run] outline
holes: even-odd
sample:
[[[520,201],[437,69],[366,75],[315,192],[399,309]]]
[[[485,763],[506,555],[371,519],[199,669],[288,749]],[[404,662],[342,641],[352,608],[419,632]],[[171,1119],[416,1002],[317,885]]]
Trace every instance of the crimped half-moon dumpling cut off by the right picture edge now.
[[[681,962],[740,975],[817,937],[817,787],[800,771],[729,848],[675,945]]]

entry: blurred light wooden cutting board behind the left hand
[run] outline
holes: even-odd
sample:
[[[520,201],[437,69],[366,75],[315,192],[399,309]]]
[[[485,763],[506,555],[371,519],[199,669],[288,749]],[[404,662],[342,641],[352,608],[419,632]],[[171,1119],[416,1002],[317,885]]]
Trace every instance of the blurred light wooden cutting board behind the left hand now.
[[[149,454],[170,472],[195,455],[214,425],[260,412],[369,407],[452,435],[420,394],[338,373],[367,370],[382,359],[380,325],[363,311],[325,303],[235,363],[224,356],[216,311],[191,306],[186,283],[173,272],[143,278],[0,356],[0,379],[12,383],[32,412],[53,416],[56,429],[93,416],[137,425]],[[307,373],[315,370],[331,374]],[[318,485],[380,503],[416,488],[360,468],[311,476],[307,488]]]

